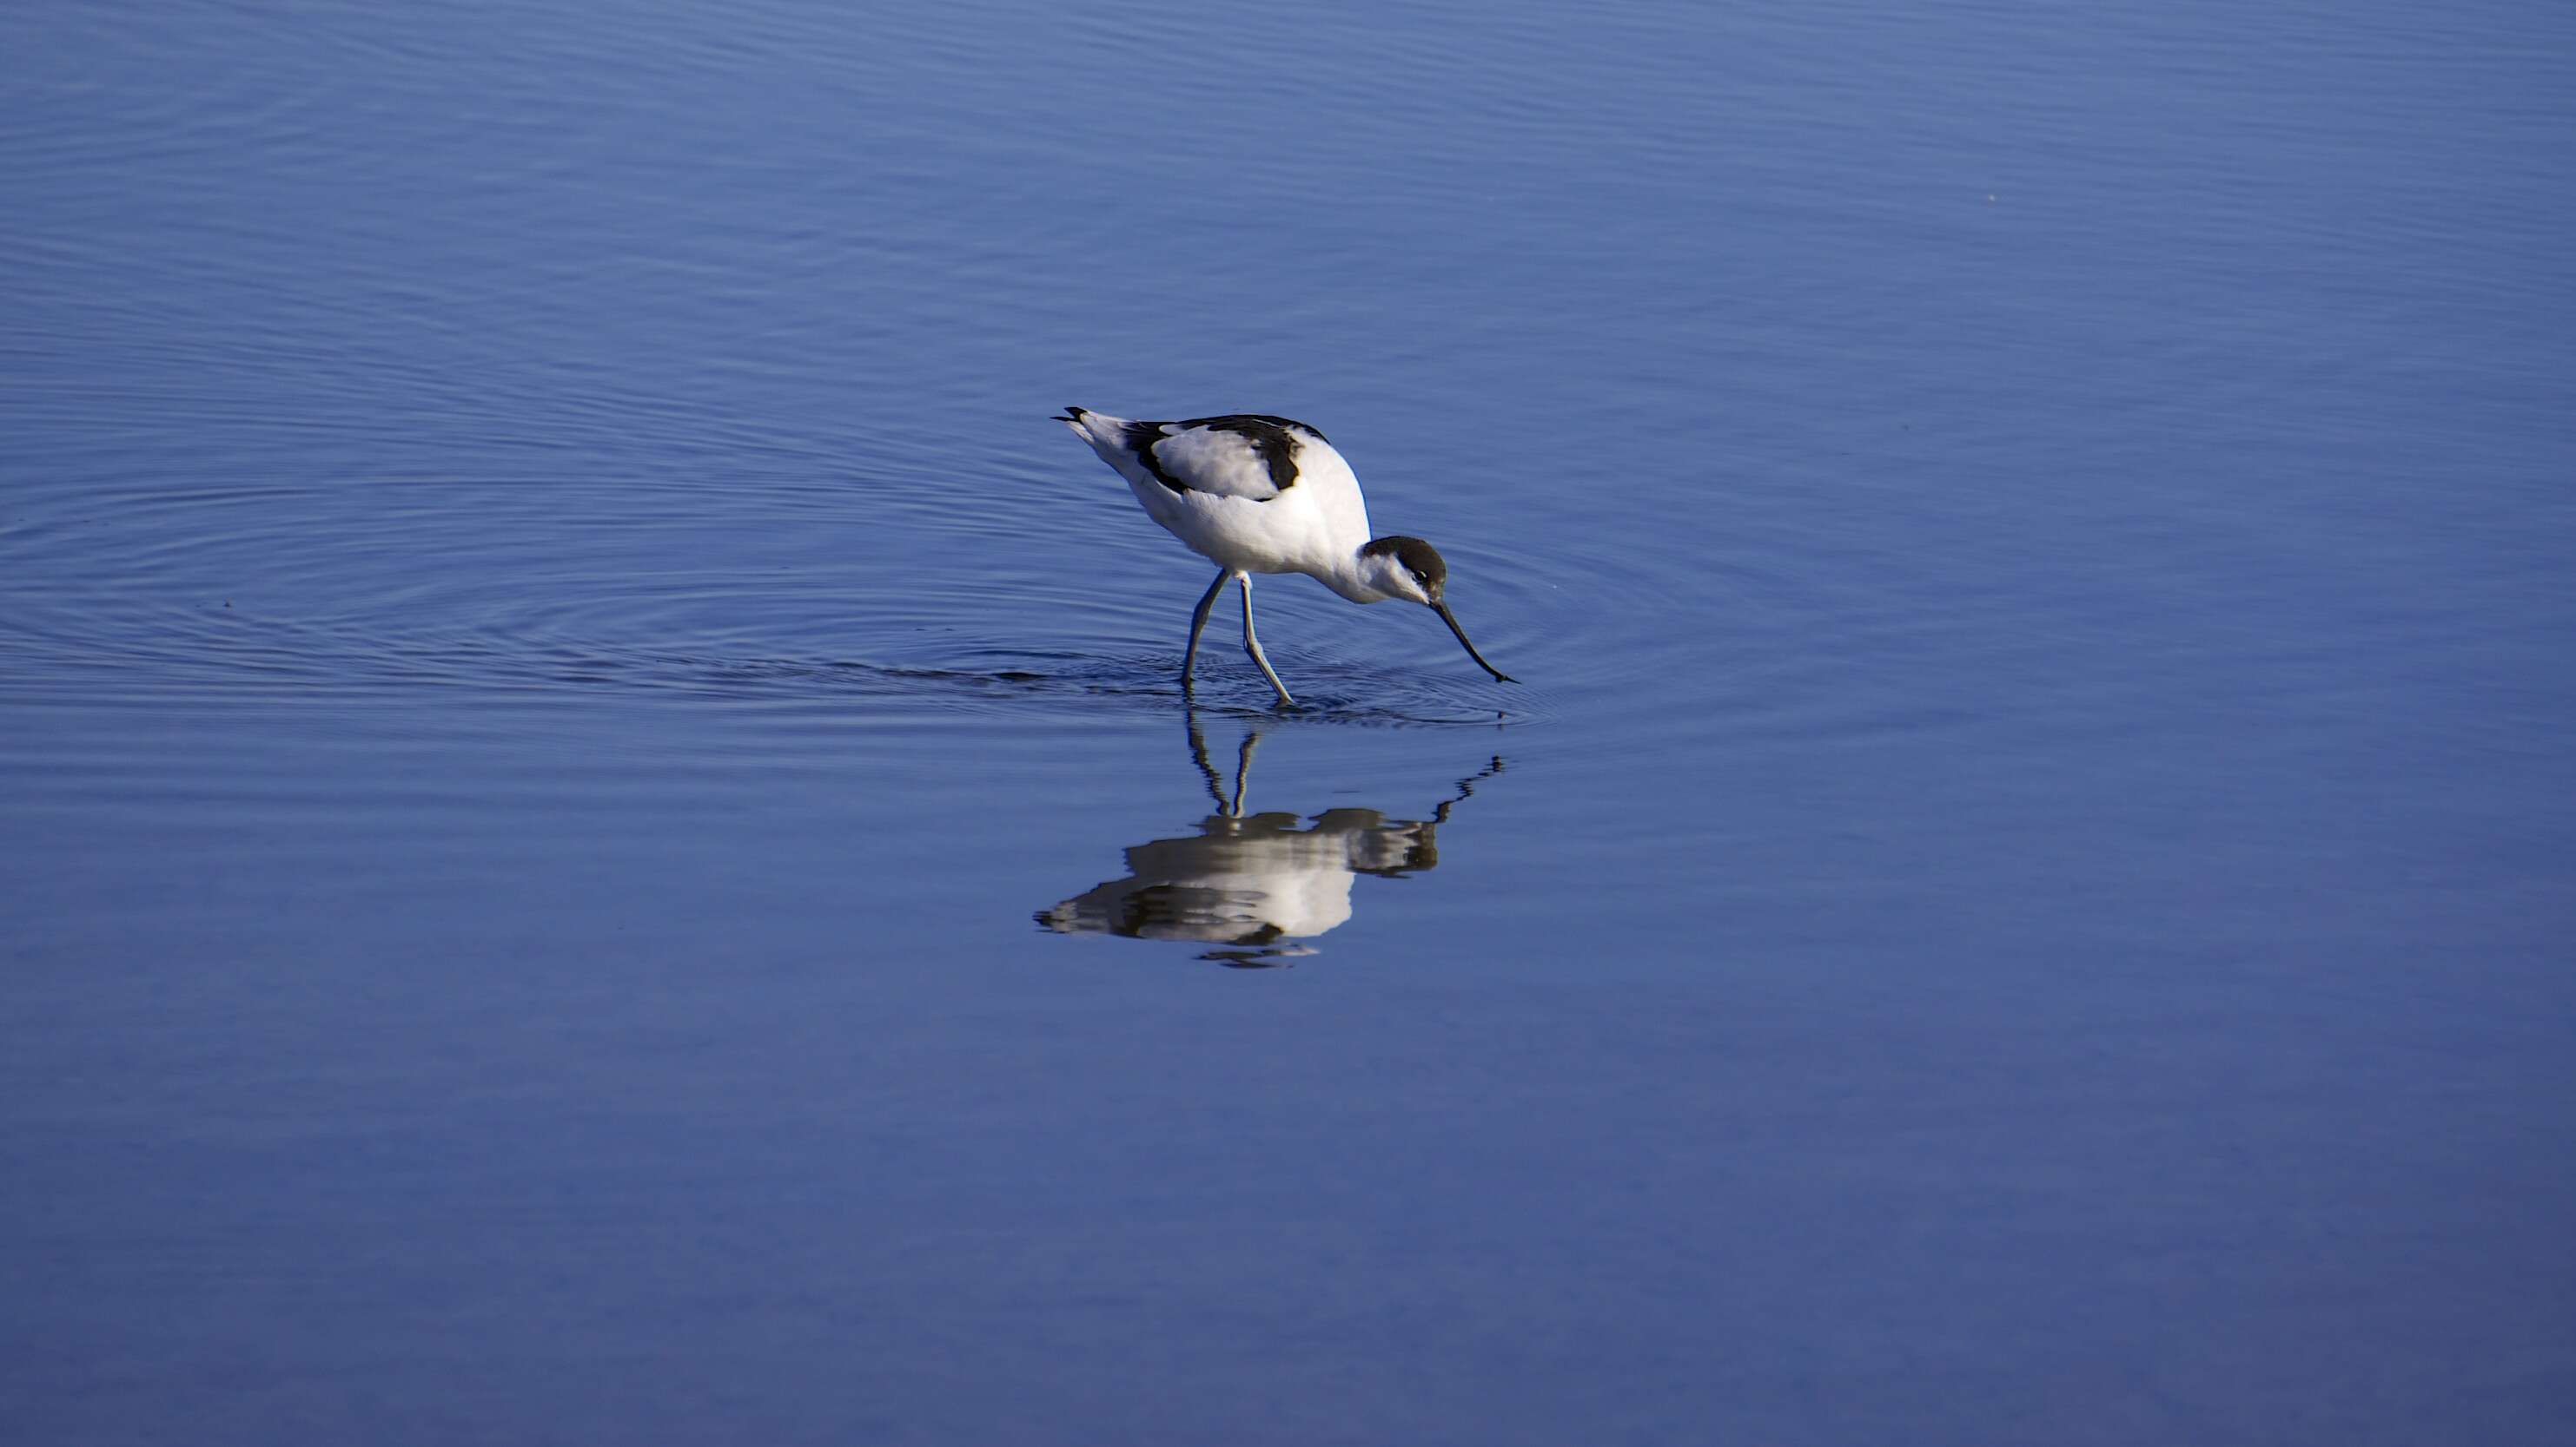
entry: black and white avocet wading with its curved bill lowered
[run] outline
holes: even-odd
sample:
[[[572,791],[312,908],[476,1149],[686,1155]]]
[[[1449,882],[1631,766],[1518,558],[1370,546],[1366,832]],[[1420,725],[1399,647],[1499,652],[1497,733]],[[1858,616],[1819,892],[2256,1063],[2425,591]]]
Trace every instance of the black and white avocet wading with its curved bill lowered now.
[[[1280,703],[1296,703],[1252,633],[1257,572],[1301,572],[1352,602],[1419,602],[1440,613],[1476,667],[1512,682],[1484,662],[1448,610],[1448,564],[1440,554],[1422,538],[1370,538],[1360,479],[1324,433],[1306,422],[1265,412],[1131,422],[1082,407],[1066,407],[1056,422],[1069,425],[1128,481],[1149,518],[1216,564],[1216,582],[1190,615],[1190,646],[1180,657],[1182,690],[1198,662],[1198,633],[1208,626],[1216,595],[1234,579],[1244,595],[1244,651]]]

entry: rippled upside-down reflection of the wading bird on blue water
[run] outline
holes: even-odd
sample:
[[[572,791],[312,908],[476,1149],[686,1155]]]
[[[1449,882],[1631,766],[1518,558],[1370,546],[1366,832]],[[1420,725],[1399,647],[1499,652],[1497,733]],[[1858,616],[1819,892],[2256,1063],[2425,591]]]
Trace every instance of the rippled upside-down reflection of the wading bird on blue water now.
[[[1492,760],[1458,780],[1430,819],[1388,819],[1376,808],[1244,814],[1244,783],[1262,731],[1244,734],[1234,788],[1208,762],[1208,739],[1190,713],[1190,760],[1208,783],[1216,814],[1190,839],[1151,839],[1126,852],[1128,878],[1108,881],[1054,909],[1038,924],[1059,935],[1126,935],[1128,940],[1203,940],[1218,945],[1200,960],[1257,971],[1314,950],[1314,940],[1350,919],[1355,875],[1404,878],[1440,863],[1437,829],[1476,785],[1502,772]]]

